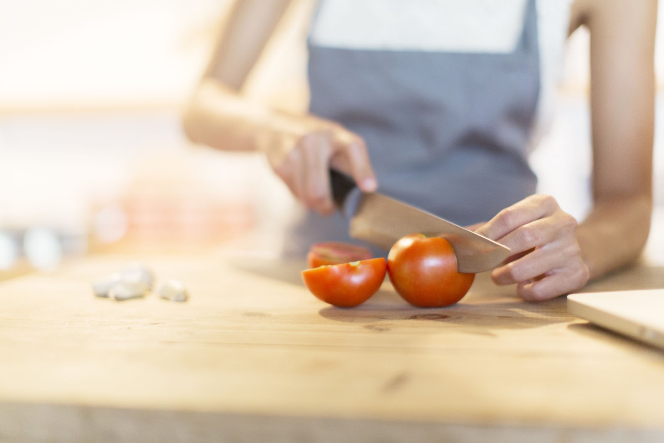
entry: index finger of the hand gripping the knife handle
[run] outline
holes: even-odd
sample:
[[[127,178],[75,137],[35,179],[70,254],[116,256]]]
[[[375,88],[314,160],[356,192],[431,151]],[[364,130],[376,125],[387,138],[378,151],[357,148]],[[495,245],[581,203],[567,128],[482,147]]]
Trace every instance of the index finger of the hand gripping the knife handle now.
[[[345,167],[357,183],[357,186],[364,192],[373,192],[378,189],[378,181],[371,167],[369,152],[365,141],[346,130],[335,133],[334,138],[335,156],[345,157]]]

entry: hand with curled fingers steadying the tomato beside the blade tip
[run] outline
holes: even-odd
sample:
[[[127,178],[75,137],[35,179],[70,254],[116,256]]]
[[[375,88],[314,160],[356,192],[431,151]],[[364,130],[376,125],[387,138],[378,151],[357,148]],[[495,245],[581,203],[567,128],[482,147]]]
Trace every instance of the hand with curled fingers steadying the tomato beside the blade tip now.
[[[576,226],[574,217],[562,211],[556,199],[539,194],[503,209],[475,232],[513,252],[503,266],[491,272],[493,282],[517,283],[521,298],[541,301],[578,290],[588,282]]]

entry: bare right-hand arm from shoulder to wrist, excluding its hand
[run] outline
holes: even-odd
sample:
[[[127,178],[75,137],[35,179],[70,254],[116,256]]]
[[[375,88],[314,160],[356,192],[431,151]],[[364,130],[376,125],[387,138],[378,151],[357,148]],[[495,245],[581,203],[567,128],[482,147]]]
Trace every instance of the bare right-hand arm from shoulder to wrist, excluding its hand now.
[[[580,0],[590,29],[594,207],[578,228],[594,278],[639,256],[652,212],[655,0]]]

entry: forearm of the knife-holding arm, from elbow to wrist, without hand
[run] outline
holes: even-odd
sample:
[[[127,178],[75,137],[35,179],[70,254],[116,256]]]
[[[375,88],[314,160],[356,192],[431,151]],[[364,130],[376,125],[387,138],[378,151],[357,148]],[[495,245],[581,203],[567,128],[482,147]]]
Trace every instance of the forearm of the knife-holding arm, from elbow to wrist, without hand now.
[[[301,120],[301,118],[299,119]],[[301,122],[284,112],[251,102],[215,80],[203,80],[183,116],[187,137],[230,151],[260,150],[276,134],[295,136]]]

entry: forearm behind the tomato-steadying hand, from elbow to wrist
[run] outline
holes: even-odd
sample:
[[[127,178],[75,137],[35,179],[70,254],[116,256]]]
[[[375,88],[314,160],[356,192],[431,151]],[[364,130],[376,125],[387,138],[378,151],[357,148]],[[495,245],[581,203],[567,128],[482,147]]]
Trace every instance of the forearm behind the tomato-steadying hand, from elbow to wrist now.
[[[651,213],[649,195],[596,199],[577,230],[591,280],[639,257],[648,238]]]

